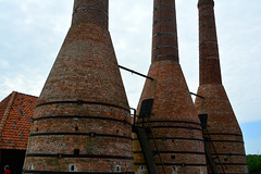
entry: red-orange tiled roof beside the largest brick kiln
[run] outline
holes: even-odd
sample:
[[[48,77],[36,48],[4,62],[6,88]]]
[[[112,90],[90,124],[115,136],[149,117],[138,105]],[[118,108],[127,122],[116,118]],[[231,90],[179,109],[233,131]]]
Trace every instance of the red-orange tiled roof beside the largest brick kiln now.
[[[37,99],[13,91],[0,102],[0,149],[26,150]]]

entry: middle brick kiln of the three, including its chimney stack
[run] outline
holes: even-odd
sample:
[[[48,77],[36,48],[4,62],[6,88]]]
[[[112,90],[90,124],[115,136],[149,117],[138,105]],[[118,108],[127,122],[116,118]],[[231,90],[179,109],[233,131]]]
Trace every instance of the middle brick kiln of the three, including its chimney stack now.
[[[146,119],[145,126],[151,125],[165,173],[206,174],[201,125],[178,62],[175,0],[154,0],[148,76],[153,80],[146,80],[137,111],[144,100],[153,99],[150,123]],[[137,124],[141,121],[139,117]],[[156,152],[151,133],[148,137],[152,152]],[[145,165],[138,147],[134,156],[137,172]],[[154,161],[159,173],[163,174],[160,157],[154,156]]]

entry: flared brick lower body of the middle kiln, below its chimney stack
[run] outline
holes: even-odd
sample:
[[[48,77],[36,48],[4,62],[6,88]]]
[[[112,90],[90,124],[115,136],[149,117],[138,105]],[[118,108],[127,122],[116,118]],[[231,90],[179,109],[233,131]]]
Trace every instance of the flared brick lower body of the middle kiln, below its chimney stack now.
[[[150,122],[166,173],[173,173],[174,167],[182,173],[207,173],[201,126],[181,65],[171,60],[158,61],[151,64],[148,75],[154,80],[146,82],[140,102],[154,99]],[[151,135],[148,137],[152,150],[156,150]],[[135,169],[145,163],[140,151],[137,148],[134,152]],[[163,173],[158,156],[154,160]]]

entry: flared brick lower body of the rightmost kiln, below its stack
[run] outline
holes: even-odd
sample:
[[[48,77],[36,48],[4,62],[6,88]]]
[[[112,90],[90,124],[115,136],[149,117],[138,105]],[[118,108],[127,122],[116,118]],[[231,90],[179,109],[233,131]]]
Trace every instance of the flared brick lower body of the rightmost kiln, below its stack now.
[[[225,172],[248,173],[243,134],[224,87],[213,84],[201,85],[198,95],[203,96],[204,99],[197,98],[196,108],[199,114],[209,115],[209,134]],[[209,146],[214,153],[210,141]],[[215,162],[220,163],[217,159]]]

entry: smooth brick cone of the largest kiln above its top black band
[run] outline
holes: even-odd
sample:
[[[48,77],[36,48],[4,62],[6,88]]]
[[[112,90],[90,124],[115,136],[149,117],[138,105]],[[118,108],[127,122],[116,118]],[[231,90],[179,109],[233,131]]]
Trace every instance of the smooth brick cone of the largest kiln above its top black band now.
[[[72,26],[38,103],[73,99],[128,108],[125,91],[119,90],[123,84],[114,55],[107,29],[85,23]]]

